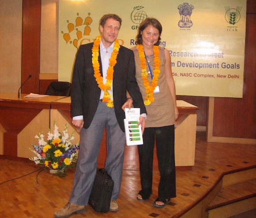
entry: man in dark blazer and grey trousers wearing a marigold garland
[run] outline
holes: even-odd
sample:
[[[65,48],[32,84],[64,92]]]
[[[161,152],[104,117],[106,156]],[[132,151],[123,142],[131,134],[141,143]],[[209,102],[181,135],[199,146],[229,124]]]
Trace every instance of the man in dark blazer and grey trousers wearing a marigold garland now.
[[[146,108],[135,78],[134,54],[118,44],[121,18],[114,14],[100,20],[101,36],[81,45],[75,60],[71,89],[72,124],[81,131],[79,158],[68,204],[56,218],[83,213],[96,175],[98,152],[106,127],[105,169],[114,181],[110,211],[118,211],[125,134],[122,107],[140,108],[139,124],[145,127]],[[127,99],[126,92],[132,98]]]

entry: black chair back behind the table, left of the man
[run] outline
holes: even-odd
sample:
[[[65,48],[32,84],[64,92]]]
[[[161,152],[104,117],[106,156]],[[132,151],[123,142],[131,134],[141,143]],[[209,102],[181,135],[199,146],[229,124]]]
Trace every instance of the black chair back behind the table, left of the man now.
[[[58,96],[70,96],[71,83],[53,81],[49,84],[45,94],[58,95]]]

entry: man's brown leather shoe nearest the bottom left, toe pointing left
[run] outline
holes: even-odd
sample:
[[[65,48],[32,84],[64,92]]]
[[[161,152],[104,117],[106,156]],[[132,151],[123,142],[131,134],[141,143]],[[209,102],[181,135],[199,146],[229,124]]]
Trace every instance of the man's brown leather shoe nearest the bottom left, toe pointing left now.
[[[76,214],[83,213],[84,211],[85,211],[84,206],[68,202],[65,205],[65,207],[62,207],[60,210],[56,211],[53,215],[56,218],[65,218],[75,213]]]

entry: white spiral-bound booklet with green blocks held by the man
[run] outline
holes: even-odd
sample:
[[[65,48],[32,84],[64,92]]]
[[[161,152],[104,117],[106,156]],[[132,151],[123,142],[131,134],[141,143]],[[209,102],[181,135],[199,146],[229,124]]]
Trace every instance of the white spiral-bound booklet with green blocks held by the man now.
[[[140,109],[125,108],[124,129],[126,145],[143,145],[141,125],[139,123]]]

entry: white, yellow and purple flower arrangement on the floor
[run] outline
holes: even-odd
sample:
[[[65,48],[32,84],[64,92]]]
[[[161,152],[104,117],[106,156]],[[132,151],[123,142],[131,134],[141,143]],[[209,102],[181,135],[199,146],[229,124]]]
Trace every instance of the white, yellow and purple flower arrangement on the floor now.
[[[63,135],[58,131],[58,127],[54,125],[53,134],[48,132],[48,142],[44,141],[44,135],[42,132],[35,135],[38,138],[38,145],[32,144],[34,149],[30,149],[37,156],[29,158],[33,160],[35,164],[43,165],[45,168],[49,168],[50,172],[64,172],[67,167],[72,167],[72,162],[77,161],[77,154],[79,152],[79,144],[72,145],[71,141],[74,139],[73,134],[68,136],[68,127],[65,124],[65,130]]]

